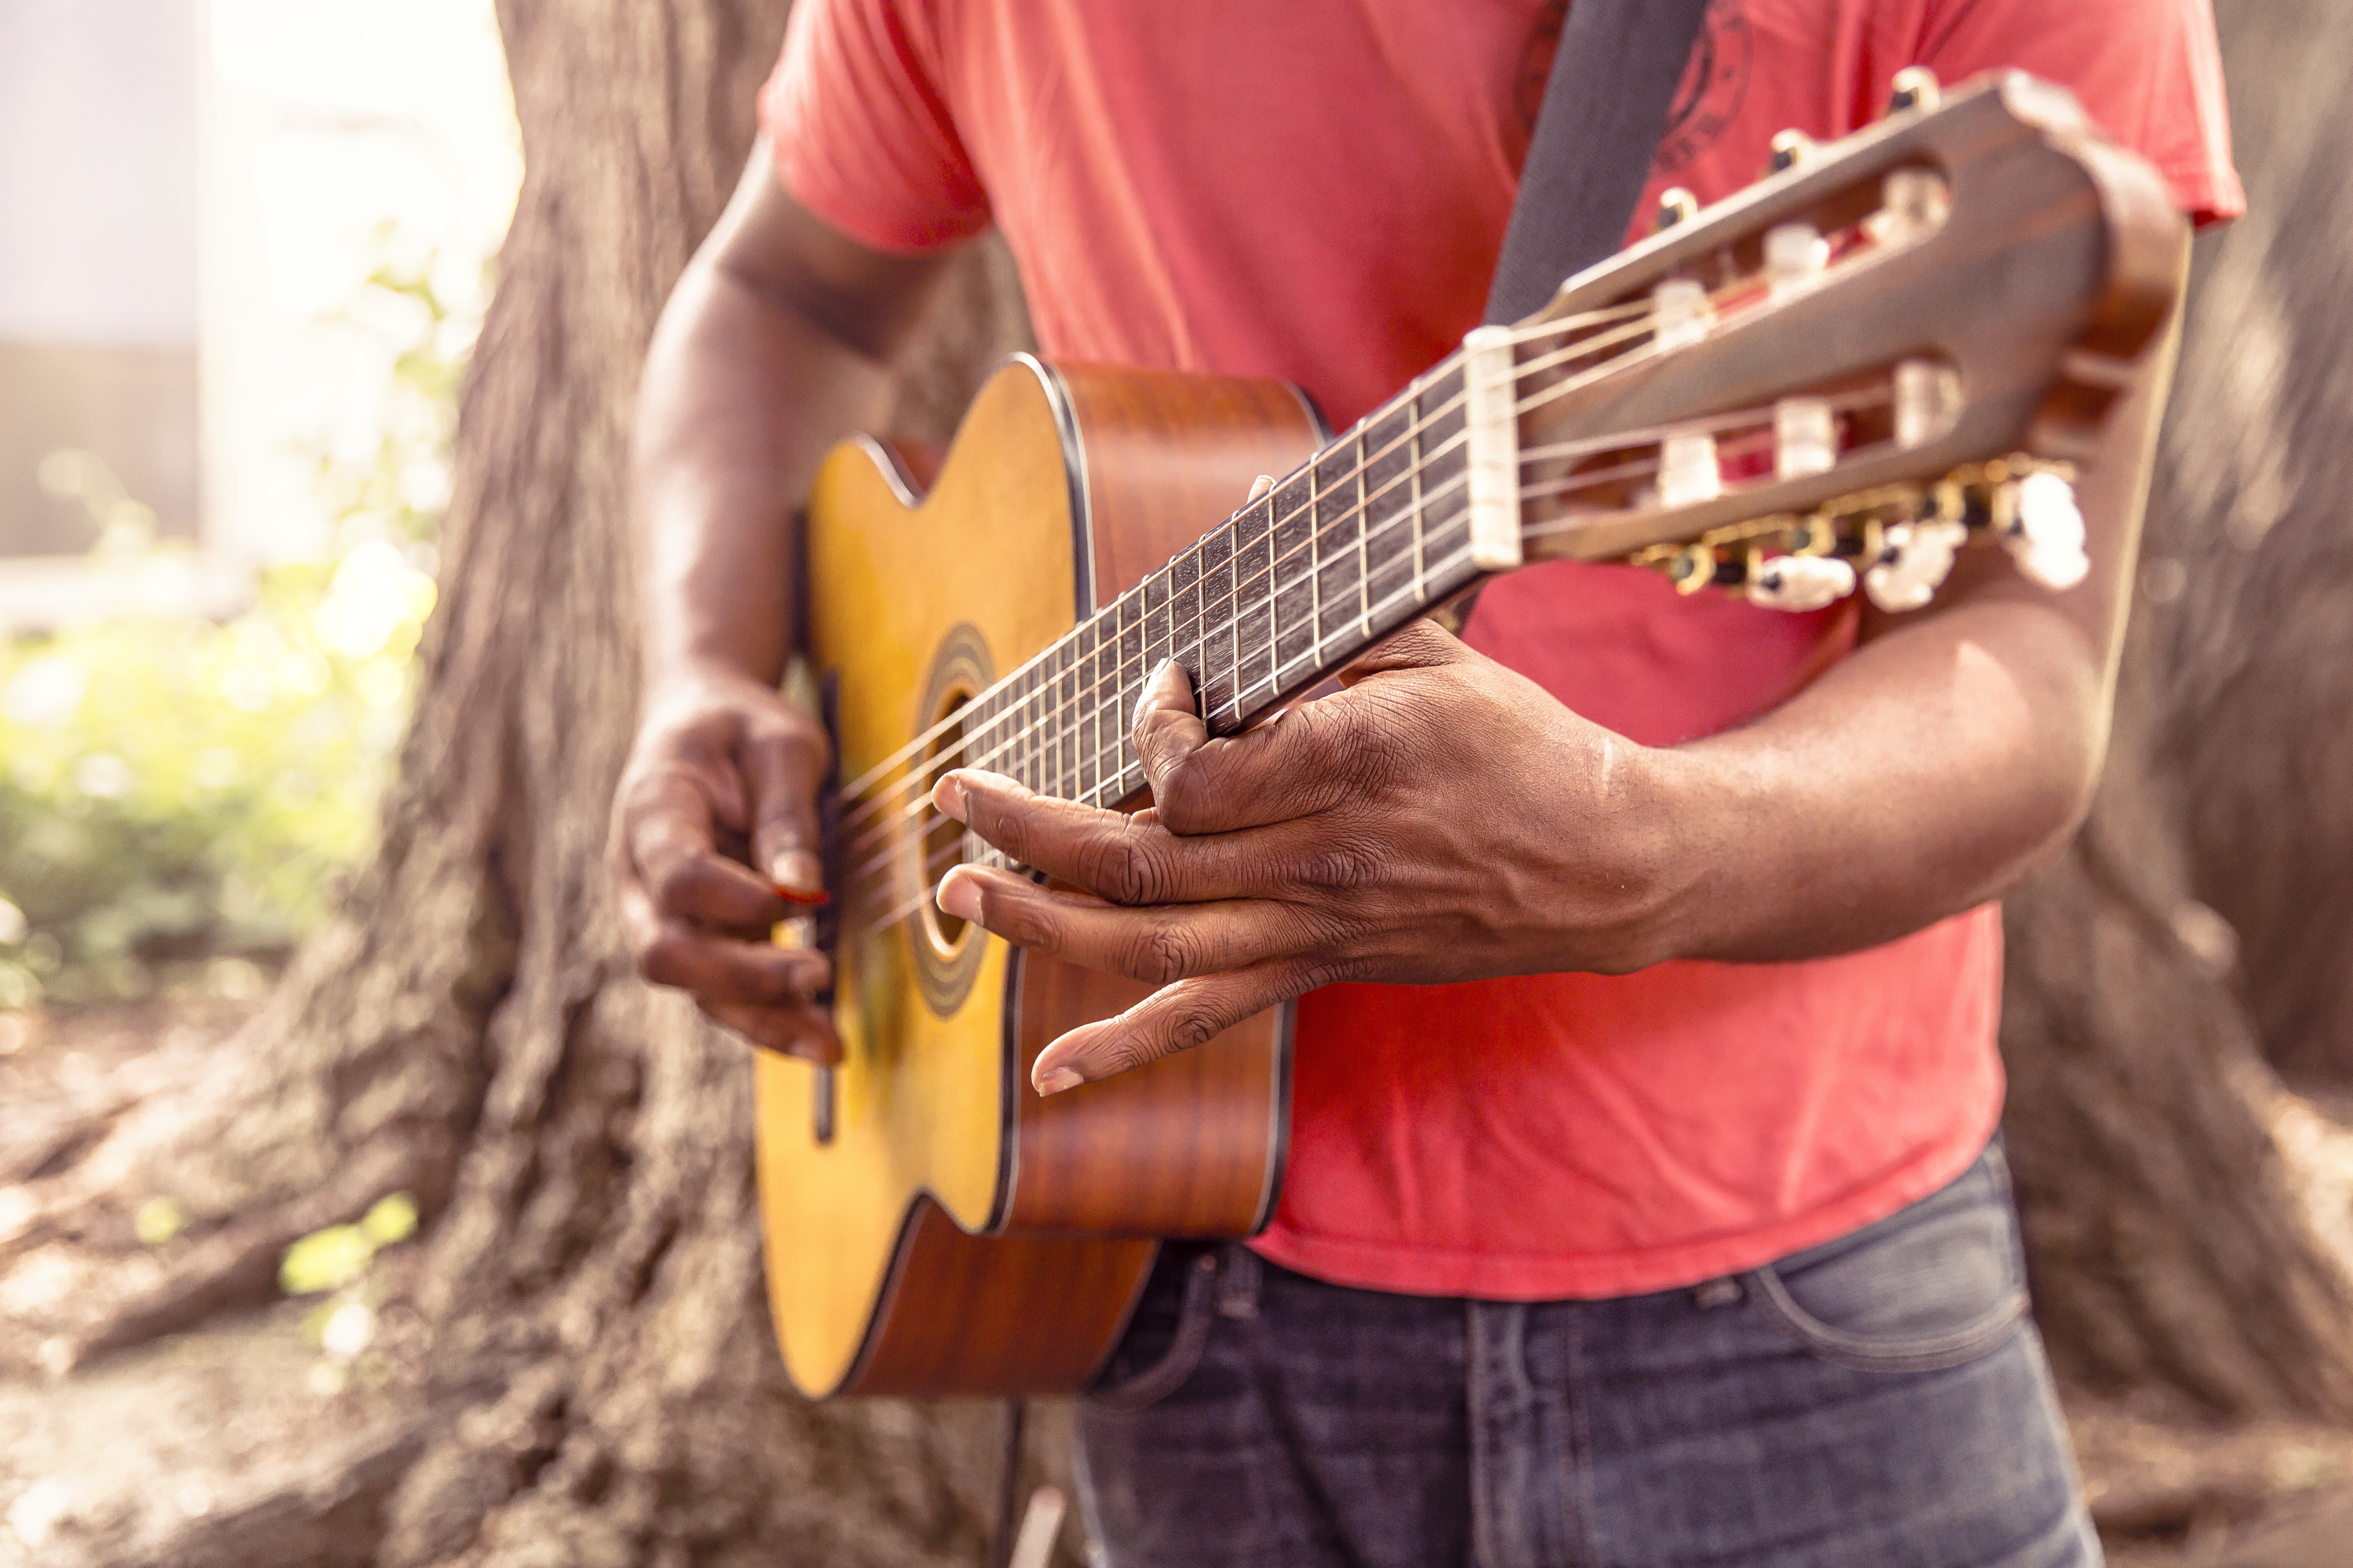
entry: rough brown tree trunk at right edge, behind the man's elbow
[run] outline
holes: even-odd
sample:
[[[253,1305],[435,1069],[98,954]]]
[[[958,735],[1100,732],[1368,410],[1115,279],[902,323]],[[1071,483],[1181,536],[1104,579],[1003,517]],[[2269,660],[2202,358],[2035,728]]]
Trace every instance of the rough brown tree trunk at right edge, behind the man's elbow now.
[[[2200,240],[2099,802],[2009,900],[2009,1138],[2061,1373],[2344,1418],[2346,1218],[2264,1058],[2353,1072],[2353,14],[2219,9],[2252,212]]]

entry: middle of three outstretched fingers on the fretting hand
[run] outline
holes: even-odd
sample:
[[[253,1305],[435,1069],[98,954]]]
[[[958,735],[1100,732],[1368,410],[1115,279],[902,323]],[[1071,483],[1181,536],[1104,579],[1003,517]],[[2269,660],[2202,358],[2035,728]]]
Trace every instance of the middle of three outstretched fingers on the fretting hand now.
[[[939,884],[939,907],[1019,947],[1153,985],[1297,957],[1318,940],[1301,910],[1268,898],[1122,910],[972,865]]]

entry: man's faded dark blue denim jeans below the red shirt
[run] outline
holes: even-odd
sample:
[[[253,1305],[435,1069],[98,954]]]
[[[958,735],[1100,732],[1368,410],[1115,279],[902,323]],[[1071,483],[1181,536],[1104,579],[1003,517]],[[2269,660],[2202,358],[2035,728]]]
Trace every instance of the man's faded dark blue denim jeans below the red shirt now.
[[[1762,1269],[1593,1302],[1169,1246],[1080,1401],[1111,1568],[2092,1568],[2000,1145]]]

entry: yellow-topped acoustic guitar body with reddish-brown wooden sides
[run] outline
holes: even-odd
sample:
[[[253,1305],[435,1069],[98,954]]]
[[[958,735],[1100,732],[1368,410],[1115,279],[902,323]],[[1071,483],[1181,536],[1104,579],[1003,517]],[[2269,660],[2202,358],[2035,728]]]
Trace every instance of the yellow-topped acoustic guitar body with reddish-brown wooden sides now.
[[[1318,442],[1280,383],[1024,355],[936,465],[835,449],[807,585],[840,778],[892,764]],[[887,809],[835,832],[842,1065],[758,1065],[769,1302],[814,1396],[1075,1389],[1155,1239],[1249,1234],[1280,1182],[1287,1009],[1052,1100],[1028,1086],[1047,1041],[1146,987],[939,914],[927,889],[965,839],[922,769],[953,743],[899,759]]]

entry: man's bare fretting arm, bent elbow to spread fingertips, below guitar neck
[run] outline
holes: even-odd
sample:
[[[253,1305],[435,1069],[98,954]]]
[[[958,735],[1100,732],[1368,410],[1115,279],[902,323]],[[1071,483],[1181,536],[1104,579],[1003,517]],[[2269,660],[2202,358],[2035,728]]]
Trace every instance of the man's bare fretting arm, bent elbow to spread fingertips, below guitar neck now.
[[[1642,748],[1421,625],[1346,691],[1207,738],[1181,670],[1141,703],[1139,818],[948,773],[936,799],[1092,891],[958,867],[941,907],[1162,983],[1073,1030],[1040,1088],[1104,1077],[1332,980],[1802,959],[1918,931],[2040,867],[2089,806],[2172,341],[2115,414],[2064,595],[1969,552],[1934,609],[1744,729]]]

